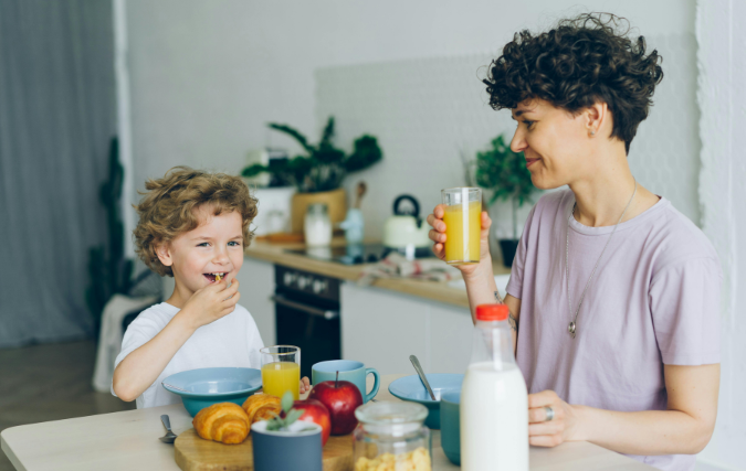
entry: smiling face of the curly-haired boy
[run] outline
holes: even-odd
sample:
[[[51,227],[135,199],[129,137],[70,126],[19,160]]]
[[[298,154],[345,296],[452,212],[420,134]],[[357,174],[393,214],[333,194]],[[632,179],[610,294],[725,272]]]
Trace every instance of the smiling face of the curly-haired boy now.
[[[174,270],[177,290],[188,299],[216,282],[221,274],[229,282],[243,265],[243,226],[238,212],[213,214],[211,205],[196,210],[200,225],[158,249],[160,261]]]

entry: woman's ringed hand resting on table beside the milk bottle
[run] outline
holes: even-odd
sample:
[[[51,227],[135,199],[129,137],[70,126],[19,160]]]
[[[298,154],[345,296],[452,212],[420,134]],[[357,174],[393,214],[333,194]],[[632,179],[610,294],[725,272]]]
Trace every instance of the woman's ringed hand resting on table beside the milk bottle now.
[[[547,420],[551,407],[554,418]],[[576,409],[554,390],[528,395],[528,443],[535,447],[556,447],[565,441],[579,440]]]

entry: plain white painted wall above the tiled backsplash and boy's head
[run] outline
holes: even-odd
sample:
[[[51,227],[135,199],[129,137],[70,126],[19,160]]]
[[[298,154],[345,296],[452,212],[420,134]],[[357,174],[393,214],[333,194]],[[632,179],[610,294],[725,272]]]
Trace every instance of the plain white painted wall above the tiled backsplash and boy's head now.
[[[318,67],[493,53],[517,29],[587,10],[693,33],[694,0],[621,3],[127,0],[135,188],[177,164],[238,172],[248,149],[290,144],[267,121],[315,136]]]

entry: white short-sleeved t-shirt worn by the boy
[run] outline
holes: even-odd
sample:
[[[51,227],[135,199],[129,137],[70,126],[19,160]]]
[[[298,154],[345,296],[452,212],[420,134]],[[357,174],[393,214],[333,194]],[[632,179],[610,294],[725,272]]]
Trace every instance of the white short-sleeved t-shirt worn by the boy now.
[[[140,312],[125,332],[115,367],[125,356],[156,336],[179,310],[167,302],[161,302]],[[176,373],[209,367],[259,370],[261,368],[259,350],[263,346],[254,319],[245,308],[237,304],[230,314],[197,329],[168,362],[155,383],[137,398],[137,408],[180,404],[179,396],[160,385],[166,377]],[[114,394],[113,386],[112,394]]]

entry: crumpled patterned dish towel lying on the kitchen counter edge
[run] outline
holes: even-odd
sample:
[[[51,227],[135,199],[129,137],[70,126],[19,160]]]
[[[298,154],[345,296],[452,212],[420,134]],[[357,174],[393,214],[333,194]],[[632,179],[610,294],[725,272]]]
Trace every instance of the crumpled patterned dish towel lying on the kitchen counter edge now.
[[[438,258],[408,260],[399,253],[391,253],[376,265],[366,267],[357,283],[369,286],[378,278],[410,278],[428,281],[450,281],[461,278],[458,268]]]

